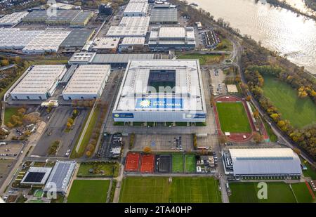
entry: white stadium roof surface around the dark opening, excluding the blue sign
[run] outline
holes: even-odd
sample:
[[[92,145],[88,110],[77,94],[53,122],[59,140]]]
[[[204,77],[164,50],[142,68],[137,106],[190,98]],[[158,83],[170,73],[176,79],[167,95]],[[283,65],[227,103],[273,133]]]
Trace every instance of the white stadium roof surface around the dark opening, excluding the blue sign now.
[[[150,93],[148,81],[150,72],[173,71],[175,73],[174,93]],[[158,90],[157,90],[158,91]],[[140,98],[176,98],[182,101],[182,108],[158,108],[157,110],[206,111],[199,60],[131,60],[126,67],[114,110],[156,110],[138,107]]]

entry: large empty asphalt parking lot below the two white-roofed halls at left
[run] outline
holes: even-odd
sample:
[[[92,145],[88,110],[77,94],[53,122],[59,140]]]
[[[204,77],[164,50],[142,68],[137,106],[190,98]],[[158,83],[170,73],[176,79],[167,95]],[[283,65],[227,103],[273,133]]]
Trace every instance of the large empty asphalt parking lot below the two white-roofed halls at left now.
[[[55,109],[48,127],[39,139],[37,146],[34,147],[32,155],[46,156],[48,148],[56,141],[60,140],[60,147],[56,154],[57,157],[65,157],[67,150],[72,149],[79,136],[81,128],[84,126],[84,120],[88,114],[87,109],[78,109],[79,115],[74,120],[73,129],[66,132],[67,119],[71,117],[72,107],[58,107]]]

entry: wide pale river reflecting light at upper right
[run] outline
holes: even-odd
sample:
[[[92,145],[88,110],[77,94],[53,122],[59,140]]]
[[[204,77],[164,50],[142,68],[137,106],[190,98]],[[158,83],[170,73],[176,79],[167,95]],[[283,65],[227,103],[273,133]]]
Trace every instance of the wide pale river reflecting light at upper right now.
[[[264,0],[263,0],[264,1]],[[303,8],[301,0],[287,0]],[[316,74],[316,22],[254,0],[187,0]],[[295,4],[296,2],[296,4]]]

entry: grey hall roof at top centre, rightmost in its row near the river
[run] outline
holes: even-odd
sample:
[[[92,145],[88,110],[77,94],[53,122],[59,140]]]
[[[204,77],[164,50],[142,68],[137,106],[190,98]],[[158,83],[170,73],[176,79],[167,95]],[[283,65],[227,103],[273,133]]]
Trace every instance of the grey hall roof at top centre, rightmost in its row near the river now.
[[[150,22],[178,22],[177,8],[153,8]]]

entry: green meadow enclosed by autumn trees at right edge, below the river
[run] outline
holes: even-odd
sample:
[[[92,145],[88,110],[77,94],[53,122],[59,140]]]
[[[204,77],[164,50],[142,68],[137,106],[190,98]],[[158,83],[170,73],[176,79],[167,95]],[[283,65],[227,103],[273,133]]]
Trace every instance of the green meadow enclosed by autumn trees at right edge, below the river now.
[[[298,98],[294,88],[275,77],[265,76],[264,79],[263,95],[270,98],[283,119],[288,119],[297,128],[316,123],[316,105],[310,98]]]

